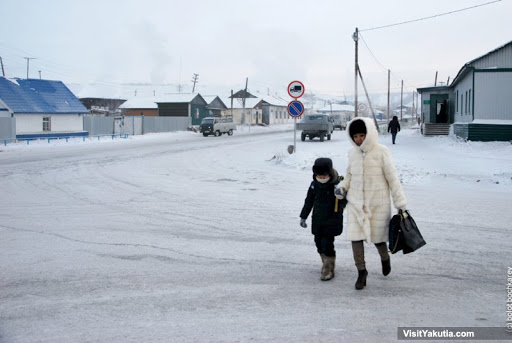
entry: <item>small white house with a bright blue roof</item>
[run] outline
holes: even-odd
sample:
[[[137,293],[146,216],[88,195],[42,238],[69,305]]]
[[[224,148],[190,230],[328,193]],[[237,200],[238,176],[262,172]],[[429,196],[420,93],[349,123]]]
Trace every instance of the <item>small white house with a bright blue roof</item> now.
[[[61,81],[0,77],[0,118],[11,122],[3,137],[87,136],[82,116],[88,113]]]

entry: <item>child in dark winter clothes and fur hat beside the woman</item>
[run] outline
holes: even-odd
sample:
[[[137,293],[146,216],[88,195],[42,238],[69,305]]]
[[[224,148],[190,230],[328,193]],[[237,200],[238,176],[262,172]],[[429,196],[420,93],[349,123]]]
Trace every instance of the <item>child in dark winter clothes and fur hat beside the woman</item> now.
[[[300,212],[300,226],[307,227],[306,219],[311,210],[311,233],[315,237],[315,245],[322,259],[320,279],[330,280],[334,277],[336,264],[335,236],[343,231],[343,208],[346,201],[334,196],[336,185],[343,180],[332,166],[332,160],[320,157],[313,165],[313,181],[311,182],[304,206]]]

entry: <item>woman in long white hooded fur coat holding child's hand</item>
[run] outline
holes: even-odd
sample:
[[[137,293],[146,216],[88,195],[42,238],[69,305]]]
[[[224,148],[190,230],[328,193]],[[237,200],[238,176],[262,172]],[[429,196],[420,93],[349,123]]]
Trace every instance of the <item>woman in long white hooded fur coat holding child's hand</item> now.
[[[354,118],[347,132],[354,148],[349,151],[345,180],[336,190],[339,199],[346,198],[347,239],[352,241],[352,253],[358,270],[356,289],[366,286],[368,271],[363,242],[373,243],[382,261],[382,273],[391,272],[386,242],[388,241],[391,199],[394,207],[406,210],[407,200],[402,191],[393,159],[388,148],[377,142],[378,131],[369,118]]]

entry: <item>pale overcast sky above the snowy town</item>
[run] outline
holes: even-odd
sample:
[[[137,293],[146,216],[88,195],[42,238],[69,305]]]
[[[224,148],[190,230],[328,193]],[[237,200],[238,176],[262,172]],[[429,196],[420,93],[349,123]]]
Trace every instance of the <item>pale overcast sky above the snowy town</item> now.
[[[333,96],[354,92],[355,46],[372,93],[453,80],[512,40],[512,0],[0,0],[7,77],[96,83],[222,85]],[[396,24],[465,11],[382,29]],[[360,89],[361,91],[361,89]]]

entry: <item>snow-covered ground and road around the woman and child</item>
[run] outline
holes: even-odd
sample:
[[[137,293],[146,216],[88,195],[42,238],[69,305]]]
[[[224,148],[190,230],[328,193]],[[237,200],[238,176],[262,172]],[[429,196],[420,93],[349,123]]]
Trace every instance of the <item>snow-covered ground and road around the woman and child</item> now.
[[[389,146],[427,245],[356,291],[299,212],[311,165],[343,174],[346,133],[248,128],[0,147],[0,342],[394,342],[399,326],[505,327],[512,145],[422,137]],[[298,135],[299,136],[299,135]]]

